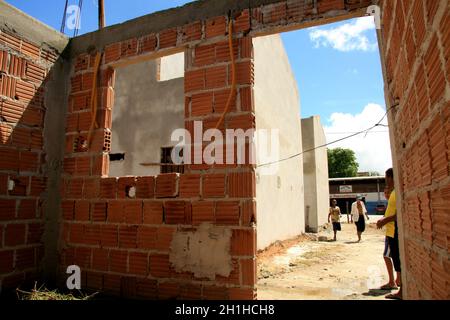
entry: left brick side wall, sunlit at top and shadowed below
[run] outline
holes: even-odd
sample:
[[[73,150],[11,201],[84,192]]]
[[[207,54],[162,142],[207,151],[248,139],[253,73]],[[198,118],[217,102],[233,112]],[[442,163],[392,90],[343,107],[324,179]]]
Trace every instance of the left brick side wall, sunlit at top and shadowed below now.
[[[40,271],[44,94],[56,58],[0,30],[0,292]]]

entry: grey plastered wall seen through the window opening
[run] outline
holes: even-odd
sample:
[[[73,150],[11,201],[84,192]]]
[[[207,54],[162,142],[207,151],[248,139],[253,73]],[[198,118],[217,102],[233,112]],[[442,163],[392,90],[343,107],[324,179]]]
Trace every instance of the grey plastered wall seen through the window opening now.
[[[184,78],[157,81],[157,64],[150,60],[116,69],[111,153],[125,153],[125,160],[110,163],[111,177],[160,173],[159,166],[140,163],[159,163],[161,147],[176,144],[172,131],[184,128]]]

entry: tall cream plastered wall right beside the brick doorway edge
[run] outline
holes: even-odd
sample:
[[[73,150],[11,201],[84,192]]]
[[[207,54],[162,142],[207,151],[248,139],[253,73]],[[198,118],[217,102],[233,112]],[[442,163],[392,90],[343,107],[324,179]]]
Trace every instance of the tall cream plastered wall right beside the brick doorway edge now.
[[[254,38],[253,46],[256,129],[279,129],[280,159],[289,157],[302,150],[297,83],[279,35]],[[273,174],[263,171],[276,165],[257,169],[258,249],[304,232],[302,165],[296,157],[280,162]]]

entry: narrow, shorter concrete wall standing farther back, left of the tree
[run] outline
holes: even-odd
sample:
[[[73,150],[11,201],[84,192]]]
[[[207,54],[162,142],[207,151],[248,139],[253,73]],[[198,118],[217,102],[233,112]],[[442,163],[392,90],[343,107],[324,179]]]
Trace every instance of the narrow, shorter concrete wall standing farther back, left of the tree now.
[[[326,143],[319,116],[302,119],[303,150],[311,150]],[[327,222],[329,208],[328,156],[326,148],[303,154],[305,181],[305,225],[309,232],[317,232]]]

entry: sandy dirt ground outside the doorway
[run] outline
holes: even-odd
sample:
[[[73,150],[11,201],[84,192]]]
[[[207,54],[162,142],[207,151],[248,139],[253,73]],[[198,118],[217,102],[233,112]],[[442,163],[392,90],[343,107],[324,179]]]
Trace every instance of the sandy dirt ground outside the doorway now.
[[[259,253],[258,299],[385,300],[389,291],[377,290],[387,282],[384,231],[375,225],[379,218],[370,216],[360,243],[355,225],[345,218],[336,242],[328,228]]]

